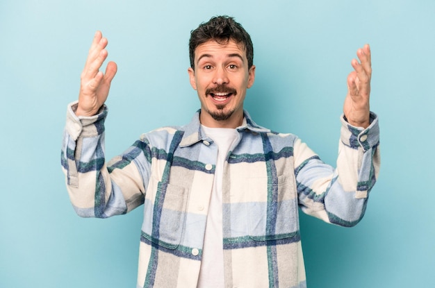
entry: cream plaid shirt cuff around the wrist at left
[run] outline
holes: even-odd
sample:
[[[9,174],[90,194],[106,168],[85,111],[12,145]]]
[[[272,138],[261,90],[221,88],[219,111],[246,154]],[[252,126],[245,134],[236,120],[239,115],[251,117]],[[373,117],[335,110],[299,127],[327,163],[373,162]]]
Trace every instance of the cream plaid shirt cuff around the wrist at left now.
[[[97,115],[86,117],[77,116],[75,111],[79,101],[69,103],[67,106],[67,121],[65,130],[76,141],[81,137],[96,137],[104,132],[104,121],[108,109],[106,105],[101,106]]]

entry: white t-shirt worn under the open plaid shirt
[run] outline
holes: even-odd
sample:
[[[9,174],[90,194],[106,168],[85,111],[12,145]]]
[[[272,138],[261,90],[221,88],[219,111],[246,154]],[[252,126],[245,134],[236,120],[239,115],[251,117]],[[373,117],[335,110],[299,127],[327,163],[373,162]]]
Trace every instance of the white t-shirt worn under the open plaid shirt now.
[[[213,191],[208,207],[206,234],[202,250],[198,288],[224,287],[224,250],[222,242],[222,173],[227,154],[238,137],[233,128],[208,128],[202,126],[208,137],[217,144],[217,161]]]

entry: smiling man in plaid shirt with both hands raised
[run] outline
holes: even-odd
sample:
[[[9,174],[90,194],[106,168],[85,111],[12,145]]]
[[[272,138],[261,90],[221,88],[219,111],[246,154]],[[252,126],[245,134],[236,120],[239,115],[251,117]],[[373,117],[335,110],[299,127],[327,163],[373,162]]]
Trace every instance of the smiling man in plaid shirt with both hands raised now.
[[[298,207],[354,226],[379,171],[379,128],[369,110],[370,48],[347,78],[337,169],[291,134],[243,110],[255,66],[249,34],[231,17],[192,31],[190,84],[201,110],[190,124],[146,133],[104,161],[104,105],[117,71],[97,32],[69,105],[62,164],[82,217],[144,204],[137,287],[306,287]]]

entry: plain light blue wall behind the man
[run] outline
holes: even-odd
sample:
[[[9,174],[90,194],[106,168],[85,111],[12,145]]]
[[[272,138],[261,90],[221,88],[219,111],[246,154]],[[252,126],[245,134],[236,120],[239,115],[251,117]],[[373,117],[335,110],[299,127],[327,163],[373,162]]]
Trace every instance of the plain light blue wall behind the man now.
[[[435,2],[0,1],[0,287],[135,287],[142,210],[76,216],[60,170],[67,103],[97,29],[119,70],[107,104],[107,155],[199,108],[188,37],[213,15],[252,35],[258,124],[299,135],[334,164],[350,60],[372,47],[372,110],[382,166],[366,217],[339,228],[302,215],[316,287],[435,283]],[[431,180],[432,179],[432,180]]]

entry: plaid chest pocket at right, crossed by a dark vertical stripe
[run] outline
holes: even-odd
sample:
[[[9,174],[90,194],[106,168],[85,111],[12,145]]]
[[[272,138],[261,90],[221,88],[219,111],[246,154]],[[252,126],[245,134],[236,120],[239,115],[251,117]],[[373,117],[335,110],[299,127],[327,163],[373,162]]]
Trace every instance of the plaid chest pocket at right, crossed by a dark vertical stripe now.
[[[255,241],[286,239],[297,235],[299,215],[295,180],[278,176],[247,179],[248,235]]]

